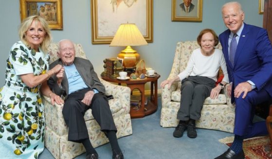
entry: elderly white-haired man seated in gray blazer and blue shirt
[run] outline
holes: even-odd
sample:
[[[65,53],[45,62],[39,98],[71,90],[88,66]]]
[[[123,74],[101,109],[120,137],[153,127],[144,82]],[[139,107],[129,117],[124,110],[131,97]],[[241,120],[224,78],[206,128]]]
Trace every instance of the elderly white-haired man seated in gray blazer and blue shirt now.
[[[59,41],[59,59],[50,64],[50,68],[60,64],[62,70],[48,80],[52,91],[63,96],[62,114],[68,125],[68,141],[82,143],[86,149],[86,159],[98,159],[91,145],[84,120],[85,112],[91,108],[92,115],[109,139],[112,159],[124,159],[116,137],[116,126],[109,109],[105,87],[87,59],[75,57],[73,42],[68,39]]]

